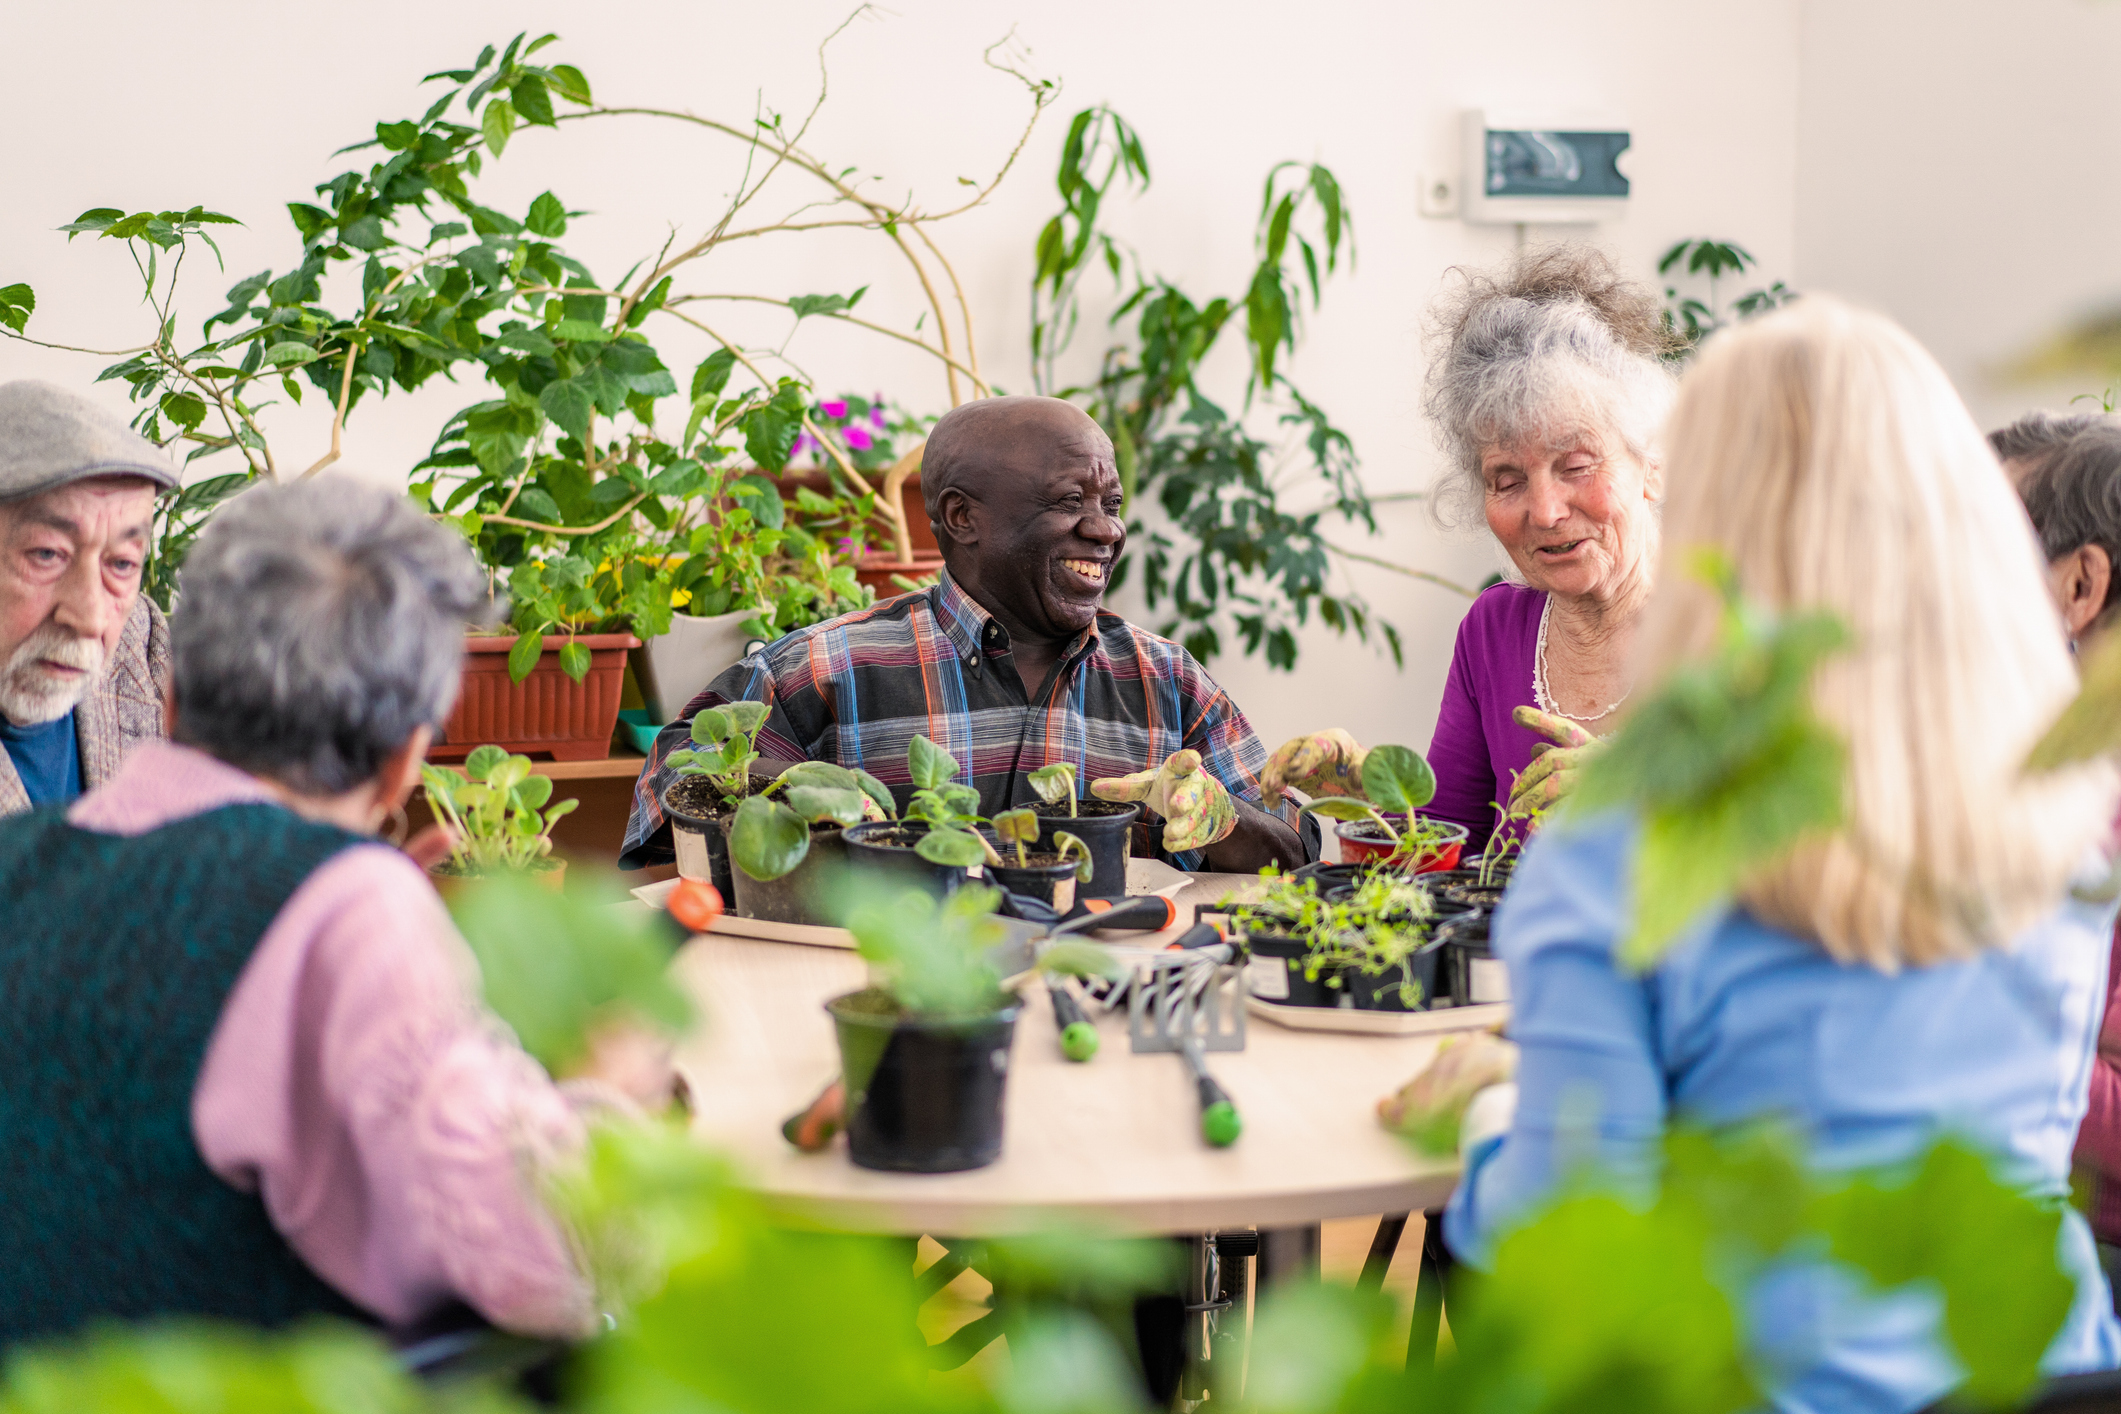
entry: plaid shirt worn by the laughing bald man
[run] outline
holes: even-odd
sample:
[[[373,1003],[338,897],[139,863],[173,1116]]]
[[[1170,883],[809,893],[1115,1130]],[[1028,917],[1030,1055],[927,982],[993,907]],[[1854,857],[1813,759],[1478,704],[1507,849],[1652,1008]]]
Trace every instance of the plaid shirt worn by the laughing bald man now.
[[[662,793],[677,774],[664,757],[691,744],[694,712],[723,702],[772,708],[757,736],[761,757],[859,765],[891,786],[901,810],[912,797],[906,746],[914,736],[957,757],[957,778],[980,791],[988,816],[1037,803],[1024,778],[1052,761],[1073,763],[1088,797],[1088,782],[1162,765],[1190,746],[1230,795],[1254,806],[1266,765],[1245,714],[1192,653],[1116,613],[1099,611],[1063,653],[1046,700],[1033,704],[1007,630],[946,572],[933,589],[776,638],[694,697],[655,738],[634,786],[621,867],[672,859]],[[1181,869],[1198,861],[1198,850],[1173,854]]]

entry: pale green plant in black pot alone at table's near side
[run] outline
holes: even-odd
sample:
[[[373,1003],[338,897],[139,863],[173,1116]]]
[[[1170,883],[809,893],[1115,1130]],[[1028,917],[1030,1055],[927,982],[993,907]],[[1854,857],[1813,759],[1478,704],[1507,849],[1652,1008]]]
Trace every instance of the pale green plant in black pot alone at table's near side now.
[[[859,827],[857,827],[859,829]],[[935,899],[872,884],[842,916],[870,986],[825,1003],[840,1039],[846,1153],[861,1168],[952,1172],[1001,1155],[1001,1113],[1020,1001],[1003,986],[1001,895]],[[1094,943],[1046,948],[1024,977],[1109,973]]]

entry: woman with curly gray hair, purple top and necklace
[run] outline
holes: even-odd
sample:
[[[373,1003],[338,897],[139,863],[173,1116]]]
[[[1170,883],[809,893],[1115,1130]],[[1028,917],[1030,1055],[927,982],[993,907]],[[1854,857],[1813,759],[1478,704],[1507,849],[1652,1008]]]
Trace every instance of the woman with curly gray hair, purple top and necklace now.
[[[1559,799],[1627,697],[1676,379],[1654,297],[1587,246],[1459,271],[1432,320],[1425,401],[1451,456],[1436,515],[1485,524],[1514,568],[1459,623],[1430,742],[1430,814],[1463,825],[1472,850],[1491,801]]]

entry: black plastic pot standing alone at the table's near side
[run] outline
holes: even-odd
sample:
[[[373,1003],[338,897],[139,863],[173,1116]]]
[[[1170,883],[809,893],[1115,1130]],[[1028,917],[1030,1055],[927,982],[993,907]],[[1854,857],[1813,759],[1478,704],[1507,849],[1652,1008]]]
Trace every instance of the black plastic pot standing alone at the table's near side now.
[[[846,1155],[859,1168],[942,1174],[1001,1157],[1014,1003],[967,1022],[923,1022],[863,990],[825,1011],[840,1032]]]

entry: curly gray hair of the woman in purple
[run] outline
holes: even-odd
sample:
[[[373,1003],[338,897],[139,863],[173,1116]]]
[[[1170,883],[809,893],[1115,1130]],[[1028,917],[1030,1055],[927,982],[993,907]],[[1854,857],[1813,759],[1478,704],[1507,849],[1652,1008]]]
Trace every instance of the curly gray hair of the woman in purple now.
[[[1642,462],[1678,379],[1657,299],[1595,246],[1525,250],[1500,273],[1453,269],[1430,310],[1423,407],[1451,466],[1430,494],[1442,526],[1478,526],[1480,454],[1584,428],[1618,437]]]

